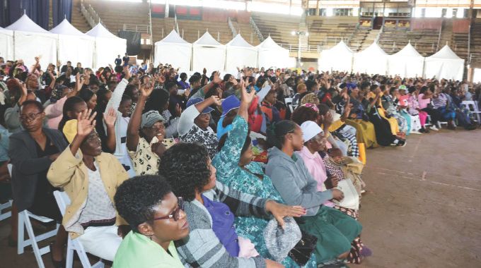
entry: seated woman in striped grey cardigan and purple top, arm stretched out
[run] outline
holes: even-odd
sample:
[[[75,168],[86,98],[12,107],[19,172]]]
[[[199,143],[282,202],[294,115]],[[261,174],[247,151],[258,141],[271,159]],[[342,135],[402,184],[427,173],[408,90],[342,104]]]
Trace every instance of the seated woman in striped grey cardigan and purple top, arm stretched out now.
[[[179,143],[162,157],[159,170],[185,200],[190,225],[187,238],[175,241],[182,263],[196,267],[282,267],[263,257],[238,257],[240,246],[233,216],[299,217],[304,209],[240,193],[216,182],[216,169],[204,146]]]

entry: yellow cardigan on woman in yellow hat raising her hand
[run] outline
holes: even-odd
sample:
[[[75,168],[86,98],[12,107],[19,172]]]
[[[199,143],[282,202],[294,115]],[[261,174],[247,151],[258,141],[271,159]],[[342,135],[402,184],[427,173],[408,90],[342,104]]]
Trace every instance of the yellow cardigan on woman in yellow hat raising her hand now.
[[[127,180],[129,176],[124,167],[112,154],[102,153],[95,157],[100,169],[100,178],[102,178],[105,190],[108,193],[110,201],[114,204],[114,195],[117,187]],[[74,156],[70,147],[67,146],[64,152],[59,155],[51,165],[47,173],[47,178],[54,187],[64,188],[69,195],[71,204],[66,207],[62,225],[72,239],[83,234],[83,227],[78,222],[80,213],[86,205],[88,195],[88,168],[83,164],[82,153],[79,150]],[[118,225],[127,224],[122,217],[117,214]]]

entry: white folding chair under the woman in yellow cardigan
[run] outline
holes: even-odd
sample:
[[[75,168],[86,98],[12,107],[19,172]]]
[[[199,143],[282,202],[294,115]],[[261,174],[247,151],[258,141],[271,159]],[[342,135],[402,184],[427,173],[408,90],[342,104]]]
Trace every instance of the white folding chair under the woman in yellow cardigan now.
[[[60,213],[62,213],[63,216],[66,206],[70,205],[69,196],[66,195],[65,192],[60,192],[56,190],[54,191],[54,197],[55,200],[57,200],[57,205],[59,206]],[[102,262],[102,259],[100,259],[97,263],[91,265],[90,260],[88,260],[87,252],[83,248],[83,245],[80,243],[80,241],[78,239],[72,240],[69,236],[66,248],[66,268],[71,268],[74,263],[74,251],[76,251],[77,255],[79,255],[82,267],[84,268],[103,268],[105,265]]]

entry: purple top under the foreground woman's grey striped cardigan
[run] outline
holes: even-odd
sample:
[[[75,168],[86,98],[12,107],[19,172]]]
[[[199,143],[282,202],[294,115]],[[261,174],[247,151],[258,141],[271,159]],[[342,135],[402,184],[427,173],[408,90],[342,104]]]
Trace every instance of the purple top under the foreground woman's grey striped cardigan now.
[[[204,200],[204,207],[209,211],[212,217],[212,231],[221,241],[224,248],[232,257],[239,255],[239,243],[234,227],[234,214],[226,204],[212,201],[209,198],[202,196]]]

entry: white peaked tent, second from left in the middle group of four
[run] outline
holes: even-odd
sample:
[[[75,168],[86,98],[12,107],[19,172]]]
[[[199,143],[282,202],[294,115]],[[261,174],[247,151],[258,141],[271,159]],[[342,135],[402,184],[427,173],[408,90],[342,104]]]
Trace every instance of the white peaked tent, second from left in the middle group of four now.
[[[210,75],[213,71],[224,71],[226,62],[226,46],[205,32],[193,44],[192,71],[200,72],[202,68],[207,69]]]

